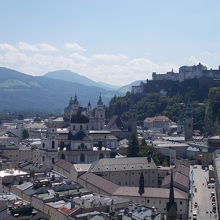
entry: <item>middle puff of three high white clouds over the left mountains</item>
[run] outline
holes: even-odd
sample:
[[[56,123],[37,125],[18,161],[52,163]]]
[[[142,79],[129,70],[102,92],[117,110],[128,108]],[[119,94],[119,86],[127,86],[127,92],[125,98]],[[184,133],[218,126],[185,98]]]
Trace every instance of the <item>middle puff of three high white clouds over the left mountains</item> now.
[[[31,51],[31,52],[39,52],[39,51],[56,51],[57,49],[46,43],[38,43],[38,44],[30,44],[27,42],[19,42],[17,45],[19,50],[22,51]]]

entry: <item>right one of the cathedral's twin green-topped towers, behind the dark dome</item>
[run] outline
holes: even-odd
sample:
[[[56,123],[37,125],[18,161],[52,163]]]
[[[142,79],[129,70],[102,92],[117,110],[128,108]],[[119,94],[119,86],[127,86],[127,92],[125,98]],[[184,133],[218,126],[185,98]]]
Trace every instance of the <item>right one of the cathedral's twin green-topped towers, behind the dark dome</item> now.
[[[102,101],[101,95],[97,102],[97,108],[95,110],[96,129],[103,130],[105,126],[105,106]]]

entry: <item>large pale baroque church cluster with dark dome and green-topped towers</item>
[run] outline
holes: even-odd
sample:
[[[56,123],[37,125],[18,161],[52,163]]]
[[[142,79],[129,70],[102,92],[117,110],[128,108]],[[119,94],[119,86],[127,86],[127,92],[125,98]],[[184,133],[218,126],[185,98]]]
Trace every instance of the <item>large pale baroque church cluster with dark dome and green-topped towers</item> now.
[[[41,162],[47,167],[64,159],[71,163],[91,163],[100,158],[114,157],[117,138],[104,130],[105,107],[101,96],[97,108],[90,103],[83,109],[75,96],[64,110],[64,127],[48,123],[42,139]],[[59,124],[60,125],[60,124]]]

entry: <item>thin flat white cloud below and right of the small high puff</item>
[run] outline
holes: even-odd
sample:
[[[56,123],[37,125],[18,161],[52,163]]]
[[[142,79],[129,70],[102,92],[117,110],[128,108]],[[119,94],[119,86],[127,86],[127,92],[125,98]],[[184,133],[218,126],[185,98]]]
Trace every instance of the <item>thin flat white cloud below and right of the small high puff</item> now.
[[[127,60],[128,57],[124,54],[94,54],[92,59],[103,62],[119,62]]]

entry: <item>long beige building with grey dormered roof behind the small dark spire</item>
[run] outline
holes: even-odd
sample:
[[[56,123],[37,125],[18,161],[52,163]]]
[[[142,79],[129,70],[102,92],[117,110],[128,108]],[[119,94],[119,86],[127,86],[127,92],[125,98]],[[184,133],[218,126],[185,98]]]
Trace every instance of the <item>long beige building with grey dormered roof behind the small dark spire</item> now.
[[[158,168],[153,159],[146,157],[103,158],[89,169],[89,172],[120,186],[139,186],[141,171],[146,187],[158,187]]]

